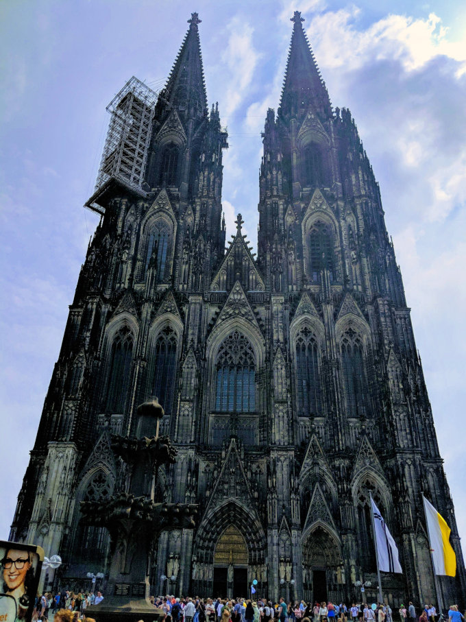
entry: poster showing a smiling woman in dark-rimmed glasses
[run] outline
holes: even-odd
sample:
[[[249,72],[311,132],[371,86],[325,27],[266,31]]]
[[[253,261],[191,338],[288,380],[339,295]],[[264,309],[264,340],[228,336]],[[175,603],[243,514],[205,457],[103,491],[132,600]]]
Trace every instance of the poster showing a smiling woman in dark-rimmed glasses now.
[[[30,622],[44,551],[0,540],[0,622]]]

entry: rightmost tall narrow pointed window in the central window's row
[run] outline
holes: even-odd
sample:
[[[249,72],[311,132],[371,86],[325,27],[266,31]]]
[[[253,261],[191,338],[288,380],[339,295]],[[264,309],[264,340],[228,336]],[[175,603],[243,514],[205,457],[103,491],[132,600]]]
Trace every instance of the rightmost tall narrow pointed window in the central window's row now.
[[[341,368],[346,414],[348,417],[364,416],[368,394],[364,348],[360,335],[352,328],[348,328],[341,342]]]

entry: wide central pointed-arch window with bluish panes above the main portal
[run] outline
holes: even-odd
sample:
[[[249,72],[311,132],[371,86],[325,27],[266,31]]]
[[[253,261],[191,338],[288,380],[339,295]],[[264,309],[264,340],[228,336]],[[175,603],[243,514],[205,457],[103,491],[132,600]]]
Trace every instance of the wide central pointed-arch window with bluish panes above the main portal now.
[[[219,348],[215,409],[220,412],[256,410],[256,362],[249,340],[233,331]]]

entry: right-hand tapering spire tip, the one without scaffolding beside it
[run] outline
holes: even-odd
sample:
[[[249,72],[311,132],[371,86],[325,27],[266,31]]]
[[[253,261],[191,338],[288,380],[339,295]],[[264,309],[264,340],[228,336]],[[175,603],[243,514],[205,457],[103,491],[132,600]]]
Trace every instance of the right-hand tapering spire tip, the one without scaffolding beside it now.
[[[291,21],[293,34],[280,100],[280,115],[306,114],[312,105],[321,117],[326,118],[332,115],[332,105],[302,26],[304,18],[299,11],[295,11]]]

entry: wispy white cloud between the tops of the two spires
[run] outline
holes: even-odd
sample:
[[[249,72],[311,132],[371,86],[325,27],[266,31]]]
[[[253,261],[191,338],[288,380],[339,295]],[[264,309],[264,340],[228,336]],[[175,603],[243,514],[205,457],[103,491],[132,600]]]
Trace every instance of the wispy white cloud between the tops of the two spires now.
[[[244,23],[239,17],[234,17],[227,27],[230,32],[228,44],[222,53],[222,61],[229,70],[225,83],[228,85],[225,93],[223,114],[227,117],[241,104],[252,82],[260,53],[256,51],[252,41],[254,29]]]

